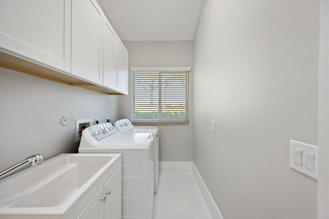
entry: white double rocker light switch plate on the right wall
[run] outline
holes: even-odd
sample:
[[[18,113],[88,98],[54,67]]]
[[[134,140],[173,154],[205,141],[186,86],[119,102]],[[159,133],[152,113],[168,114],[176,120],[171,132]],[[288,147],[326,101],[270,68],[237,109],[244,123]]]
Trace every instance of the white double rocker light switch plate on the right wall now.
[[[298,154],[301,154],[301,164],[299,164]],[[289,166],[318,179],[318,146],[290,140]]]

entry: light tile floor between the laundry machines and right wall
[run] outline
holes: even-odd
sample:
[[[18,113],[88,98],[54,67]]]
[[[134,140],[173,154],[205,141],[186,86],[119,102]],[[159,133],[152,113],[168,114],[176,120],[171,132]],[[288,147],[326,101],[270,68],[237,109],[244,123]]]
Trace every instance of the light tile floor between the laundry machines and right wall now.
[[[192,171],[160,171],[153,219],[212,219]]]

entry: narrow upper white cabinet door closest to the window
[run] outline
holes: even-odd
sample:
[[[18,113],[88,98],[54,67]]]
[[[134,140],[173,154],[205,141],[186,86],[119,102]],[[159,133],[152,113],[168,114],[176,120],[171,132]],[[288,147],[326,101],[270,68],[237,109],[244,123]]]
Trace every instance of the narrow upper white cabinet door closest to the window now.
[[[128,51],[118,42],[118,85],[119,91],[128,94]]]

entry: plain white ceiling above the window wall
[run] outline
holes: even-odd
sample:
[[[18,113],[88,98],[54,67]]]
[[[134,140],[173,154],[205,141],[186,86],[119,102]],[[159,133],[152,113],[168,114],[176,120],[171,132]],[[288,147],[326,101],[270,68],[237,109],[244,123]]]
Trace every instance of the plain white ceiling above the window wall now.
[[[101,0],[123,41],[193,39],[202,0]]]

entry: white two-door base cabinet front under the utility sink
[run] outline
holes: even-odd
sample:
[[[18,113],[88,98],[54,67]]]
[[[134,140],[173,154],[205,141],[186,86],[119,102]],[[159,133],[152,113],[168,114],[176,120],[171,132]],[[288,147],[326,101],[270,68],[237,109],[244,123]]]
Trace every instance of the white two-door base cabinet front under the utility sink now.
[[[121,219],[121,165],[77,219]]]

